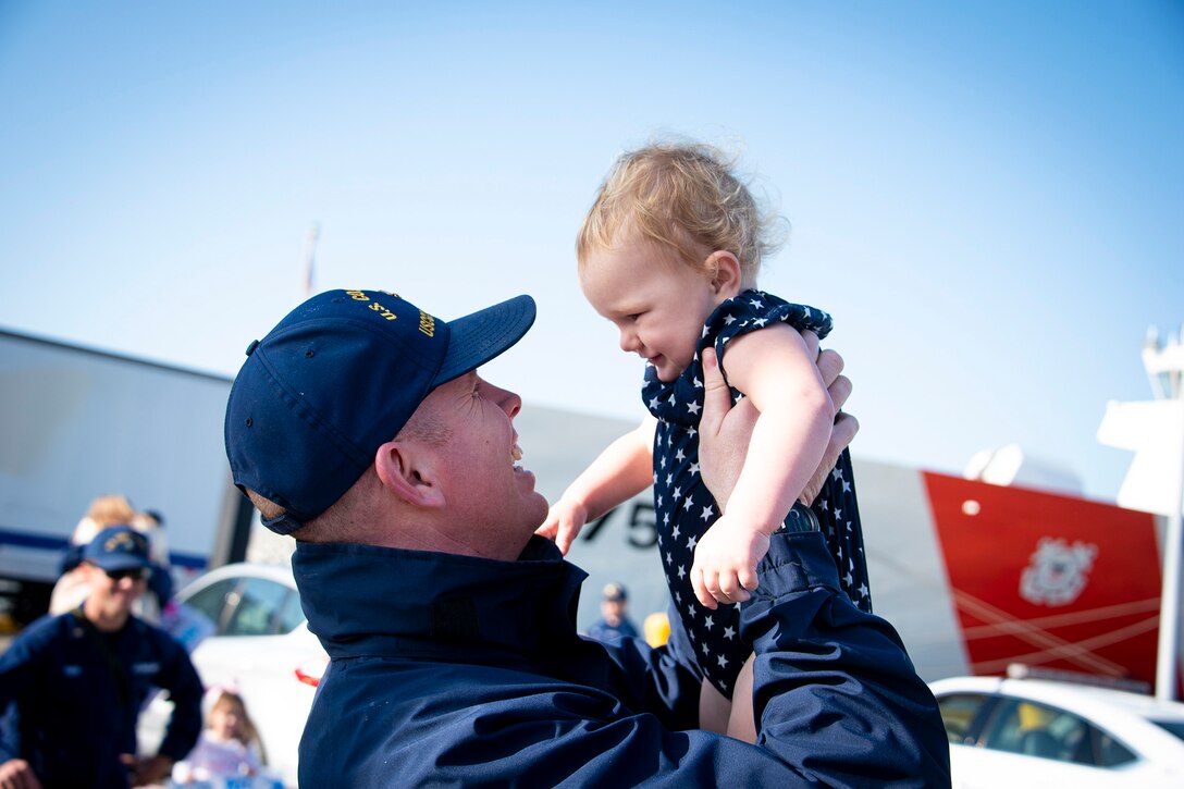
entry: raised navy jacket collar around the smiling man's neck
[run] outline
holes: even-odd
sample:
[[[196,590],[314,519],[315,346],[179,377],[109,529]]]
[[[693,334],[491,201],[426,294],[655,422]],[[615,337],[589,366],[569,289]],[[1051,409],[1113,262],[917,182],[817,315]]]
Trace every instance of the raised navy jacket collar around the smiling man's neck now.
[[[472,657],[549,663],[579,641],[587,573],[532,538],[516,562],[342,543],[297,543],[292,572],[309,629],[334,660]],[[567,657],[570,659],[570,657]]]

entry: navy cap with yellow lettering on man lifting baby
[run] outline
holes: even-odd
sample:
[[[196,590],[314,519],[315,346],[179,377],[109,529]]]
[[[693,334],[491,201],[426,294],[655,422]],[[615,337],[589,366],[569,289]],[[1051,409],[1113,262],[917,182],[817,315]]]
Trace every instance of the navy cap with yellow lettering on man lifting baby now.
[[[234,485],[287,512],[290,534],[333,506],[427,394],[517,342],[530,296],[443,321],[393,293],[329,290],[246,349],[226,406]]]

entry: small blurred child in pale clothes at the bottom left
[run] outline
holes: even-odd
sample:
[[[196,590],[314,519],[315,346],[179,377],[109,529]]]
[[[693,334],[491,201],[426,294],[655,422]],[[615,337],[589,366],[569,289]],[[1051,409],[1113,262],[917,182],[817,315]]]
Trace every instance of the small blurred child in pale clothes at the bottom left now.
[[[206,727],[184,762],[173,766],[173,781],[181,785],[252,785],[244,778],[258,776],[265,761],[263,743],[236,691],[206,691]]]

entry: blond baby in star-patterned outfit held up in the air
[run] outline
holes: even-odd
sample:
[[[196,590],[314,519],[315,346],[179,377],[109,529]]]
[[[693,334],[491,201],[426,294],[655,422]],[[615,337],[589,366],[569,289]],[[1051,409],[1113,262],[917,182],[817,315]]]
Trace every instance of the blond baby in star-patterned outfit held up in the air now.
[[[701,725],[749,742],[751,648],[735,603],[757,588],[772,533],[821,527],[843,591],[870,610],[849,454],[812,509],[793,507],[835,418],[798,329],[822,338],[831,322],[755,289],[761,257],[777,246],[773,222],[709,146],[657,143],[616,162],[577,239],[580,287],[616,325],[622,351],[646,360],[642,398],[654,418],[593,461],[539,528],[566,553],[585,522],[654,485],[663,570],[695,650],[681,659],[704,680]],[[699,475],[707,349],[733,399],[759,413],[726,513]],[[742,704],[729,703],[736,693]]]

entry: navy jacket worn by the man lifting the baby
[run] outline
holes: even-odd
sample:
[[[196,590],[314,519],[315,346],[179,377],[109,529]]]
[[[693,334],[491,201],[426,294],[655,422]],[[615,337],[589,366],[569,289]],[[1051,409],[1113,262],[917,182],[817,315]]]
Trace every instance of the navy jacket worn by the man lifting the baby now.
[[[760,745],[684,731],[700,684],[663,650],[578,636],[586,573],[548,540],[517,562],[297,544],[332,657],[301,785],[948,785],[937,703],[895,630],[838,592],[821,534],[772,543],[741,614]]]

